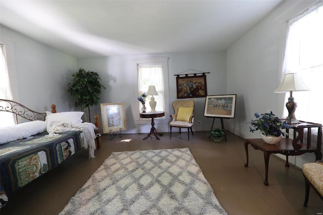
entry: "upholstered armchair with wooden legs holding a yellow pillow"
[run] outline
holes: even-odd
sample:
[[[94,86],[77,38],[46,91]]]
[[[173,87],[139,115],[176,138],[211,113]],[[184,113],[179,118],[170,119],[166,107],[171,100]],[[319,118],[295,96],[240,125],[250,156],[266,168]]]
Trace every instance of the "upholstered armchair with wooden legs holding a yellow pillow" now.
[[[172,128],[177,127],[187,128],[188,140],[190,140],[190,130],[192,135],[194,135],[192,131],[192,126],[194,123],[194,100],[176,100],[173,102],[173,108],[175,114],[171,115],[172,121],[170,122],[171,128],[171,139],[172,139]]]

